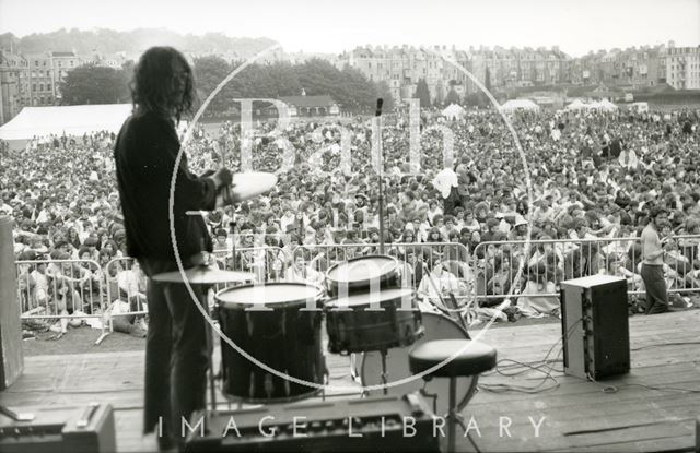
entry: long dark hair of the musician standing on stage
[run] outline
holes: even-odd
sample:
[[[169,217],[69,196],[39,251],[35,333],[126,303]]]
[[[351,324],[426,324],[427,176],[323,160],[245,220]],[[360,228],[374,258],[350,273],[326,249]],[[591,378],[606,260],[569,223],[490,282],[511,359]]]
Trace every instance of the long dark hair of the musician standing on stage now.
[[[185,93],[176,99],[173,82],[173,62],[179,61],[185,70]],[[135,112],[153,111],[166,117],[174,115],[179,121],[183,112],[190,111],[195,99],[192,70],[185,57],[172,47],[151,47],[139,59],[130,83]]]

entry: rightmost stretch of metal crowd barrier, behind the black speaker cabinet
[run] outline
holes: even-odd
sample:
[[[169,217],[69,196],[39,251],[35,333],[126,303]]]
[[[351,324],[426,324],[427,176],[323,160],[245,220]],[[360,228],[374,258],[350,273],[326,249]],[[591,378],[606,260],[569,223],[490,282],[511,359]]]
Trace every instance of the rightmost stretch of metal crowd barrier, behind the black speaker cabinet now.
[[[700,235],[674,236],[664,241],[664,275],[672,294],[700,294]],[[509,294],[559,296],[562,281],[607,274],[627,278],[628,293],[642,295],[640,238],[551,239],[481,242],[474,249],[475,296],[498,303]],[[517,271],[521,278],[514,282]]]

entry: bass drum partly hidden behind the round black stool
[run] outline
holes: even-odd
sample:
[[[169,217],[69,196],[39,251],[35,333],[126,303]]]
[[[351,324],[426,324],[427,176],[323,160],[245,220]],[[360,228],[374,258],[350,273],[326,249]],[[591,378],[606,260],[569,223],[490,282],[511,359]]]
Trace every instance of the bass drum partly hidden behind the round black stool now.
[[[408,368],[408,353],[411,348],[423,342],[432,339],[468,339],[467,332],[457,322],[444,314],[423,311],[422,312],[423,336],[411,346],[397,347],[386,353],[386,381],[392,382],[412,377],[413,373]],[[382,355],[380,353],[364,353],[362,357],[362,385],[382,384]],[[457,410],[462,410],[467,405],[467,392],[471,384],[471,378],[457,378]],[[450,412],[450,379],[433,378],[429,382],[422,378],[410,382],[389,386],[389,395],[405,395],[419,391],[425,386],[429,394],[438,396],[436,415],[446,416]],[[369,392],[371,395],[383,394],[382,389]]]

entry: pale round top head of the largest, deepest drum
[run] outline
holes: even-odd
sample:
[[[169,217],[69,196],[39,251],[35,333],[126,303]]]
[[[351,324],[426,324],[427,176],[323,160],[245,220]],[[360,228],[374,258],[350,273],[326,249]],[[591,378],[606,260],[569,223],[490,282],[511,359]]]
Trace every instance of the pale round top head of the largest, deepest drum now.
[[[226,288],[217,294],[219,305],[224,308],[243,308],[254,305],[266,307],[306,303],[318,300],[323,289],[305,283],[268,283]]]

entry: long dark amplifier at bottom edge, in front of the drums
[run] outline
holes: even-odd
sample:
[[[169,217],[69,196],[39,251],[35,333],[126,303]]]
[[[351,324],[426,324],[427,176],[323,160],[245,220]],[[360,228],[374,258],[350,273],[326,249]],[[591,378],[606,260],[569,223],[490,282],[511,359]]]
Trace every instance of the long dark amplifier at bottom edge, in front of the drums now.
[[[442,434],[419,393],[201,412],[190,427],[189,452],[439,452]]]

